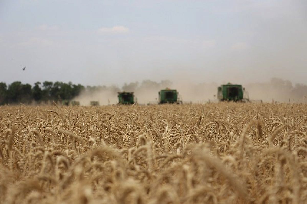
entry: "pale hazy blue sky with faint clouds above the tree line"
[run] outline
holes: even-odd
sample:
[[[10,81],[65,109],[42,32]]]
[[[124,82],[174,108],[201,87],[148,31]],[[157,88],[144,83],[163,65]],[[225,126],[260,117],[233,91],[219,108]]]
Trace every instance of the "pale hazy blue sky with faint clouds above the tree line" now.
[[[306,2],[0,0],[0,81],[306,83]]]

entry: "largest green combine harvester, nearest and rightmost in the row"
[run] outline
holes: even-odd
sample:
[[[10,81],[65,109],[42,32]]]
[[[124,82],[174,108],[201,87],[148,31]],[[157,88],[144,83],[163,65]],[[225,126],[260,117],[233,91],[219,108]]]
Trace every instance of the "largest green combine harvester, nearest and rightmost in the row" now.
[[[219,101],[249,101],[248,98],[243,98],[245,89],[240,84],[227,83],[218,87],[217,99]]]

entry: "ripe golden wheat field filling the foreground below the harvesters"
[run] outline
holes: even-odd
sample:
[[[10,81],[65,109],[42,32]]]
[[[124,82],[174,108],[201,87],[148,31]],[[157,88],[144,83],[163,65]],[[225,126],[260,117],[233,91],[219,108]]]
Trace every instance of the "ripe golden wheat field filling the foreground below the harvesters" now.
[[[1,203],[306,203],[307,105],[1,106]]]

